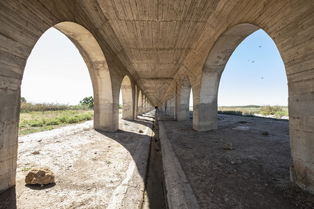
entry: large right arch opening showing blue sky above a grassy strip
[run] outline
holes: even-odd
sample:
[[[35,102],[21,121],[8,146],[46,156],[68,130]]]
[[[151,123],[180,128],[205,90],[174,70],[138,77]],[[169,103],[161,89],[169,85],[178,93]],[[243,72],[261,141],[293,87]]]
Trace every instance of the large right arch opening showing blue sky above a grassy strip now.
[[[262,106],[275,110],[263,113]],[[285,66],[276,44],[262,29],[243,40],[227,61],[218,89],[218,110],[287,116]]]

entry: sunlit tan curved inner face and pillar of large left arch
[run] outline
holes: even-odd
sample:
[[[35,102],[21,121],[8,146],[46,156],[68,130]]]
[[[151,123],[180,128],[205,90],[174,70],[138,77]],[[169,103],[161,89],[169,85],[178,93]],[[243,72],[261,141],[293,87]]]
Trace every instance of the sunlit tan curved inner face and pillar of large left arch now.
[[[107,61],[94,36],[80,24],[61,22],[54,28],[65,34],[82,55],[94,90],[94,128],[100,131],[114,132],[112,84]]]

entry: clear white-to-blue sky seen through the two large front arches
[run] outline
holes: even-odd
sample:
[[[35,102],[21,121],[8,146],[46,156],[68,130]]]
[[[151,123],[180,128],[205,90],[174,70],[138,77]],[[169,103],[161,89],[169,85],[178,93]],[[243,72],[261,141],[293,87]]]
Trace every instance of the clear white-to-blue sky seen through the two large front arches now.
[[[36,103],[78,104],[93,95],[82,56],[66,36],[53,28],[33,48],[21,91],[27,101]],[[262,30],[241,42],[220,80],[219,106],[246,104],[287,105],[283,61],[273,40]]]

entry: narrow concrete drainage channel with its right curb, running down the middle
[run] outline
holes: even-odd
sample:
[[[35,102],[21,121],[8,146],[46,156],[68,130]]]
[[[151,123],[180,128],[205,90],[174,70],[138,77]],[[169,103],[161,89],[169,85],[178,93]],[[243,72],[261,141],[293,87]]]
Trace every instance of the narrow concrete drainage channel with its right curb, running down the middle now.
[[[158,110],[153,132],[142,208],[200,208],[167,139]]]

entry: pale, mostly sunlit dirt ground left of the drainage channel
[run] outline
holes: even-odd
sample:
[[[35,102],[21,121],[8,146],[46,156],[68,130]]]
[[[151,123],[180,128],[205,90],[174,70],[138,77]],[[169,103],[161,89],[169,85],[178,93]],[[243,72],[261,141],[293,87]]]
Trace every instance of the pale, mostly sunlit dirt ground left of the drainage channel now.
[[[151,112],[120,118],[114,133],[87,121],[20,137],[16,186],[0,194],[0,208],[141,208],[153,122]],[[22,170],[33,167],[50,168],[55,183],[25,185]]]

